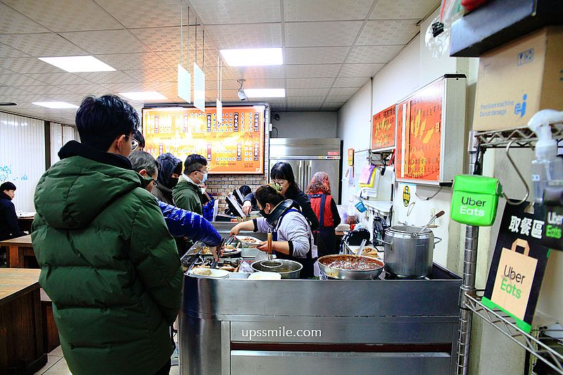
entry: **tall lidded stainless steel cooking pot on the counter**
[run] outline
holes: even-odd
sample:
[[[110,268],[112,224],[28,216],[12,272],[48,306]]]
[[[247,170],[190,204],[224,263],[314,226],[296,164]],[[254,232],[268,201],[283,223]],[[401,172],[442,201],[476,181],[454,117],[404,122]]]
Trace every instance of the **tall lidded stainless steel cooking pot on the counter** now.
[[[409,279],[424,278],[432,272],[434,245],[442,239],[434,242],[432,231],[421,229],[408,225],[386,229],[384,241],[379,240],[385,246],[386,272]]]

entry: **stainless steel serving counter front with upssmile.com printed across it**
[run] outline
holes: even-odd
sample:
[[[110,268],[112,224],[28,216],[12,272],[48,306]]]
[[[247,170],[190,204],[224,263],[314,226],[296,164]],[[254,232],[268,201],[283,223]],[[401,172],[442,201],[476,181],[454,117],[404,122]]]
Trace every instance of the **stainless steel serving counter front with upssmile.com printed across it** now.
[[[184,277],[181,374],[453,373],[460,284]]]

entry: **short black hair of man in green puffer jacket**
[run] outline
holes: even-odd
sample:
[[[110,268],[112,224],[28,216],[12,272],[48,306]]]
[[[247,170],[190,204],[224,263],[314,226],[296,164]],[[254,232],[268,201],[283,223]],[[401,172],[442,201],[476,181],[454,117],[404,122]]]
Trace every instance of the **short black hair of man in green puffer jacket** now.
[[[119,96],[87,96],[76,111],[82,144],[107,151],[118,136],[129,136],[139,126],[137,111]]]

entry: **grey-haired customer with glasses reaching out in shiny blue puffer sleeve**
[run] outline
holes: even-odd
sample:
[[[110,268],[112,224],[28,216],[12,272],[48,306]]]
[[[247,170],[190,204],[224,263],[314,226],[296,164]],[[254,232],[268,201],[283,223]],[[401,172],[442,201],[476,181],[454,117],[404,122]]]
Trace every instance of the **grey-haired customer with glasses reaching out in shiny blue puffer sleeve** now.
[[[145,151],[130,153],[129,160],[131,160],[133,170],[142,177],[145,189],[154,192],[154,189],[160,185],[157,183],[158,170],[161,169],[158,167],[158,161]],[[182,208],[163,201],[158,201],[158,206],[163,212],[164,220],[172,236],[187,237],[191,241],[203,241],[215,253],[213,247],[219,245],[221,235],[208,220],[195,212],[182,210]]]

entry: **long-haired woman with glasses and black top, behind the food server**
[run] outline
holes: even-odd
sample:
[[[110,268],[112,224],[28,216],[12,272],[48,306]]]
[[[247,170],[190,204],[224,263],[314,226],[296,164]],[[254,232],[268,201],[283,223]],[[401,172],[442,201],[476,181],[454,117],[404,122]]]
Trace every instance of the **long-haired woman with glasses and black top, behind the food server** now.
[[[291,199],[301,206],[301,211],[307,220],[309,220],[311,229],[314,231],[317,230],[319,227],[319,219],[311,208],[309,197],[297,186],[291,165],[284,162],[275,163],[272,170],[270,170],[270,180],[281,186],[280,193],[284,198]],[[249,193],[244,197],[242,210],[246,215],[250,214],[255,202],[256,199],[253,193]]]

